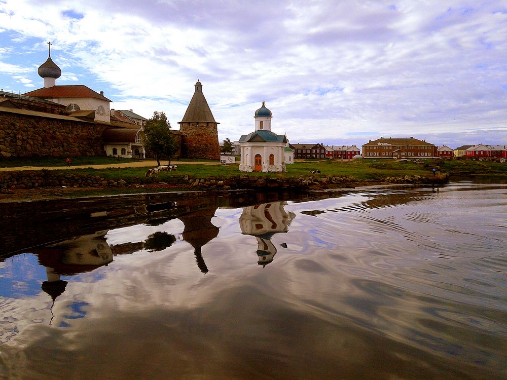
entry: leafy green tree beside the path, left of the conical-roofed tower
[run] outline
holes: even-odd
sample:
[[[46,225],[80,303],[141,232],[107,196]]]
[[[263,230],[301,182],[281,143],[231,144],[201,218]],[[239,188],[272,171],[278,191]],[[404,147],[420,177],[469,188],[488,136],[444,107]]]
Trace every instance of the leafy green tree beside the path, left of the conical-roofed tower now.
[[[153,118],[144,125],[144,147],[153,152],[157,164],[160,158],[166,157],[171,165],[171,157],[178,150],[178,144],[172,137],[171,124],[164,112],[153,112]]]

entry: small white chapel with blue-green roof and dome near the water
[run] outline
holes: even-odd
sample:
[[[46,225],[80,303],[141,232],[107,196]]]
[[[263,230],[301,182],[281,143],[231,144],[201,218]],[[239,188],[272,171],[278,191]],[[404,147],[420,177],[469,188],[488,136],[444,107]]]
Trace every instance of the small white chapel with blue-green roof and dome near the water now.
[[[255,111],[255,131],[242,135],[241,146],[242,172],[281,172],[285,171],[284,152],[287,146],[285,135],[271,131],[271,111],[262,107]]]

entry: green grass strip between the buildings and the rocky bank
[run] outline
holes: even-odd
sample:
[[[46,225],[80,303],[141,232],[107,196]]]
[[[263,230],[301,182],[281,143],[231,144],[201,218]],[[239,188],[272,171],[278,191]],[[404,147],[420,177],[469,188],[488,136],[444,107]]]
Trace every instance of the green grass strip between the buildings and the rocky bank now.
[[[139,161],[135,159],[116,159],[111,157],[84,157],[74,158],[73,165],[94,165],[94,164],[115,164]],[[173,160],[175,161],[175,160]],[[177,160],[183,161],[183,160]],[[250,175],[270,178],[283,177],[300,177],[310,176],[310,170],[320,170],[321,175],[332,176],[350,176],[359,180],[379,180],[386,177],[399,177],[405,175],[429,176],[432,169],[436,168],[440,172],[450,174],[485,174],[485,175],[501,175],[507,174],[507,165],[495,162],[480,161],[443,161],[443,160],[424,160],[420,163],[411,161],[392,161],[392,160],[359,160],[350,162],[341,162],[340,160],[324,160],[324,161],[306,161],[295,162],[286,165],[286,172],[279,173],[260,173],[240,172],[238,165],[199,165],[193,162],[216,162],[215,160],[189,160],[188,164],[178,164],[178,170],[173,172],[161,172],[157,180],[177,182],[182,180],[182,176],[187,174],[191,178],[208,178],[225,179],[235,175]],[[237,161],[238,162],[238,161]],[[163,165],[167,162],[161,162]],[[16,160],[0,160],[0,166],[65,166],[65,160],[62,159],[16,159]],[[69,171],[70,170],[70,171]],[[66,169],[62,170],[63,174],[90,174],[97,175],[105,179],[131,179],[144,178],[148,168],[106,168],[106,169]],[[152,180],[146,180],[151,182]]]

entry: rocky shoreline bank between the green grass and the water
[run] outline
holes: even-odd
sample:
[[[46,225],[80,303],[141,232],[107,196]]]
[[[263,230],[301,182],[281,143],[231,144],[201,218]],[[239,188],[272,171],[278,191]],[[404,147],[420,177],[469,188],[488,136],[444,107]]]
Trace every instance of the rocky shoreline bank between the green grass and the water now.
[[[175,175],[171,182],[157,178],[105,179],[98,175],[54,173],[48,170],[10,172],[0,176],[0,202],[27,202],[59,198],[83,198],[95,194],[123,195],[133,192],[171,191],[329,191],[373,185],[445,184],[447,174],[430,177],[399,176],[381,180],[359,180],[351,176],[308,175],[300,177],[259,177],[241,174],[228,178]]]

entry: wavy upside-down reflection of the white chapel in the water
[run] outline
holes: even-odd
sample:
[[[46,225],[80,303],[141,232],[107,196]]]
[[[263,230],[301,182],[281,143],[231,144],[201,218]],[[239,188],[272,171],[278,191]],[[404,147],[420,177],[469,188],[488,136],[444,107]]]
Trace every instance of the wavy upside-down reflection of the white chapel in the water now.
[[[273,261],[276,254],[276,247],[271,242],[274,234],[287,232],[295,214],[287,213],[283,208],[287,202],[263,203],[256,206],[243,208],[243,214],[239,218],[241,232],[244,235],[252,235],[257,239],[258,264],[263,268]],[[286,248],[286,244],[282,243]]]

